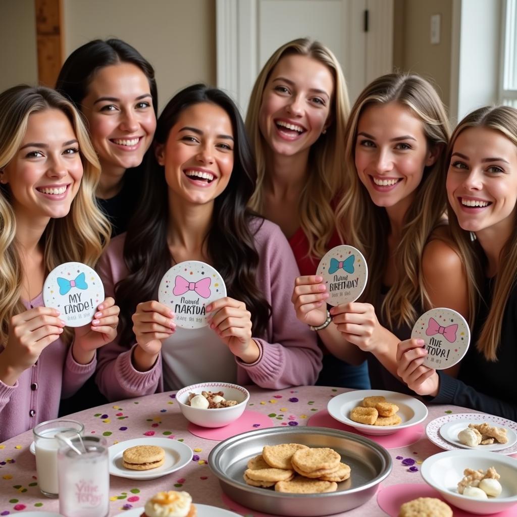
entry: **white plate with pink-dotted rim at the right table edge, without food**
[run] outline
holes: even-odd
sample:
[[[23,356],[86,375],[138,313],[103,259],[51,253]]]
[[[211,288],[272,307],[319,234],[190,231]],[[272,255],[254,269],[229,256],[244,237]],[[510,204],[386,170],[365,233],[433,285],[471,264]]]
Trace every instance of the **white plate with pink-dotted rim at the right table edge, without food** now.
[[[497,425],[497,427],[505,427],[508,431],[508,439],[510,440],[510,432],[512,434],[517,433],[517,422],[512,422],[511,420],[507,420],[506,418],[496,417],[494,415],[486,415],[485,413],[451,413],[449,415],[444,415],[443,417],[435,418],[431,420],[427,427],[425,428],[425,434],[427,437],[433,442],[434,445],[437,445],[440,449],[445,449],[447,451],[459,449],[460,447],[467,448],[470,450],[489,450],[486,447],[492,447],[487,445],[479,445],[475,449],[472,447],[465,447],[464,445],[455,444],[453,442],[449,442],[447,439],[444,439],[440,434],[440,428],[444,424],[448,424],[450,422],[463,421],[467,422],[465,427],[468,427],[469,423],[473,422],[492,422],[492,425]],[[462,427],[462,429],[465,429]],[[459,430],[461,431],[461,429]],[[456,433],[455,439],[458,440],[458,433]],[[499,454],[515,454],[517,452],[517,442],[514,442],[513,445],[508,446],[507,444],[498,444],[505,446],[504,448],[497,449]]]

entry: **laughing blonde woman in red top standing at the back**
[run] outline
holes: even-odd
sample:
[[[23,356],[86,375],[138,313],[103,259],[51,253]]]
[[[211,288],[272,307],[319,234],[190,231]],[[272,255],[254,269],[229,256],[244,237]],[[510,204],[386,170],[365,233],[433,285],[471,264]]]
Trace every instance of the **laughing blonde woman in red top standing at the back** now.
[[[344,191],[348,95],[341,67],[320,42],[285,43],[258,74],[246,117],[257,161],[251,208],[277,223],[302,275],[341,244],[334,215]],[[319,384],[368,387],[362,369],[324,359]]]

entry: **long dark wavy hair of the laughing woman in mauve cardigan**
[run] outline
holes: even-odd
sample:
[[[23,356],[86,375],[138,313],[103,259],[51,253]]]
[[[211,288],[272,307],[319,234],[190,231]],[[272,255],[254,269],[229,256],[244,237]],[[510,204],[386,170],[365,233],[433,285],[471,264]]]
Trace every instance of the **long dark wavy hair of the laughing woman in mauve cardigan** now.
[[[246,208],[255,189],[256,169],[244,122],[236,105],[217,88],[204,84],[189,86],[176,94],[163,109],[156,127],[155,142],[165,144],[181,112],[201,102],[216,104],[228,114],[235,140],[232,175],[227,187],[215,199],[212,224],[205,236],[208,256],[221,273],[228,295],[246,303],[252,314],[253,335],[262,336],[271,307],[256,285],[259,257],[253,231],[250,230],[251,219],[256,216]],[[123,328],[121,340],[126,343],[133,338],[131,316],[136,305],[153,299],[162,276],[171,267],[167,245],[168,185],[164,168],[153,153],[148,154],[144,178],[142,203],[134,214],[124,245],[124,261],[129,275],[115,287]]]

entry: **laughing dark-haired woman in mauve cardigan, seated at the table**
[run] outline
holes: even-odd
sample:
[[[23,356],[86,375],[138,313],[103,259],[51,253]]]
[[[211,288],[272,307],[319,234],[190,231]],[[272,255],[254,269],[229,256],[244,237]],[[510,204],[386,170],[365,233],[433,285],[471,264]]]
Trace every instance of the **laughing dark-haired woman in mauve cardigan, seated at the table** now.
[[[163,110],[155,140],[145,202],[100,263],[123,312],[120,338],[99,356],[101,391],[118,400],[210,380],[313,384],[321,353],[289,305],[293,253],[278,226],[246,208],[256,171],[235,104],[218,89],[188,87]],[[177,328],[156,301],[165,271],[185,260],[214,266],[228,292],[197,330]]]

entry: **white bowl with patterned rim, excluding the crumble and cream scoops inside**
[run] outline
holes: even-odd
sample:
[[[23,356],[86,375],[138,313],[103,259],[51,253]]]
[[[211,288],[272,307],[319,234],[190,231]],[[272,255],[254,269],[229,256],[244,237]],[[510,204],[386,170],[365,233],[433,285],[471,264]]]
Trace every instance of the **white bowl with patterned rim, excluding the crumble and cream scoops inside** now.
[[[202,391],[222,391],[226,400],[236,400],[238,403],[235,406],[214,409],[203,409],[187,405],[189,393],[201,395]],[[244,413],[249,398],[250,394],[246,388],[229,383],[192,384],[180,389],[176,393],[176,400],[183,416],[190,422],[201,425],[201,427],[224,427],[224,425],[237,420]]]

